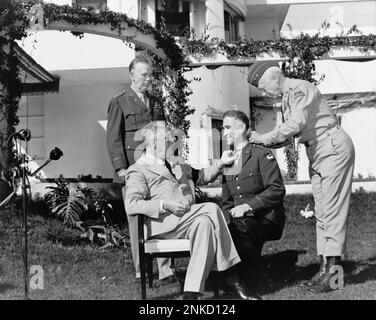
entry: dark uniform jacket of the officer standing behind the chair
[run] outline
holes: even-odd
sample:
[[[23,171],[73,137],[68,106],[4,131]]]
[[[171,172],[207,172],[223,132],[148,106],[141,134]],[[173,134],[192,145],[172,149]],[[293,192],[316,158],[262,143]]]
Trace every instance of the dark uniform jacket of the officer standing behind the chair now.
[[[107,149],[115,171],[126,169],[135,163],[134,152],[141,138],[136,132],[153,120],[165,120],[163,111],[156,110],[150,101],[148,106],[129,87],[113,97],[108,107]],[[117,174],[114,182],[123,181]]]

